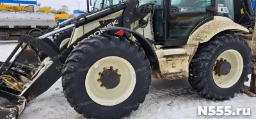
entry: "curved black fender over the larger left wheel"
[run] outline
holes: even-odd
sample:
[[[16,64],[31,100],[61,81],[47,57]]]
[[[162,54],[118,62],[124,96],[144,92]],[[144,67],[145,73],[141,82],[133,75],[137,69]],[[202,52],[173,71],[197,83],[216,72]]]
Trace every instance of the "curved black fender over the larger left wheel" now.
[[[159,71],[159,61],[156,55],[156,52],[154,51],[152,45],[150,44],[150,42],[148,42],[148,40],[142,36],[140,33],[138,33],[137,31],[134,31],[132,29],[129,28],[123,28],[123,27],[114,27],[114,26],[110,26],[110,27],[106,27],[106,28],[100,28],[104,31],[112,31],[112,30],[124,30],[127,31],[129,33],[132,33],[132,35],[136,38],[136,40],[138,40],[138,42],[140,42],[141,46],[143,47],[143,50],[146,53],[147,58],[150,61],[150,66],[153,70],[157,70]]]

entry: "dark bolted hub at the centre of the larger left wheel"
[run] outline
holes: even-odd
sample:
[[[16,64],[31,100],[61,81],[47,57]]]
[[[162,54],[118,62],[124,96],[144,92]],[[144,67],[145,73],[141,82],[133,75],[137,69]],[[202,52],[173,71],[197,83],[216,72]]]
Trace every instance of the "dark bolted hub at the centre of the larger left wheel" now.
[[[120,83],[120,77],[115,70],[106,70],[100,77],[101,83],[107,89],[113,89]]]

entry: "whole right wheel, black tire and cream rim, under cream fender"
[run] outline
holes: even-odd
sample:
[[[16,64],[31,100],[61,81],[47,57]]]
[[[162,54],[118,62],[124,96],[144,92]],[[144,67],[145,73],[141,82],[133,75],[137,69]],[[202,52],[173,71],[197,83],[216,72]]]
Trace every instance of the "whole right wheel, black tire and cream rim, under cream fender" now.
[[[251,49],[233,33],[222,33],[200,44],[189,65],[189,83],[202,97],[228,100],[252,73]]]

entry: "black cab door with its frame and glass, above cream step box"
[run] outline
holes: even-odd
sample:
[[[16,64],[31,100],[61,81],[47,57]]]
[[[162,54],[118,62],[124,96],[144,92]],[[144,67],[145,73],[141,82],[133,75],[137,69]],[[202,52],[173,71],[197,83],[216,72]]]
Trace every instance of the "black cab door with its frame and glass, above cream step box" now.
[[[165,46],[185,45],[196,27],[213,18],[214,10],[207,10],[211,5],[214,6],[211,0],[167,0],[164,6],[165,38],[159,38],[157,42]]]

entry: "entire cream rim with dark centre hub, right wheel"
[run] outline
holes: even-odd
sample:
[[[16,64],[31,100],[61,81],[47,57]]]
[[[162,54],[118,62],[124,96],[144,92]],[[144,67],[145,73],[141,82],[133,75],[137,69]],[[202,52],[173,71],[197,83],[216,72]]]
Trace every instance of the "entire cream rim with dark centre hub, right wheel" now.
[[[212,67],[212,78],[220,88],[230,88],[239,81],[243,73],[243,57],[234,50],[229,49],[218,56]]]

